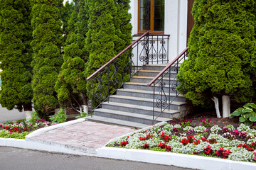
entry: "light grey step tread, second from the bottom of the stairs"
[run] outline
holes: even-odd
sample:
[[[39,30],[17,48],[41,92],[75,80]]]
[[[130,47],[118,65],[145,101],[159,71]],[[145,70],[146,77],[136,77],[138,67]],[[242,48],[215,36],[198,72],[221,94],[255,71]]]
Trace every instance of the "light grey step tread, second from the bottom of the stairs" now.
[[[146,120],[152,120],[151,115],[143,115],[143,114],[138,114],[138,113],[129,113],[129,112],[124,112],[124,111],[115,111],[115,110],[110,110],[110,109],[106,109],[106,108],[99,108],[95,111],[99,111],[99,112],[103,112],[103,113],[109,113],[109,114],[113,114],[113,115],[127,115],[127,116],[133,117],[133,118],[142,118],[142,119],[146,119]],[[163,121],[169,121],[171,119],[159,117],[156,120],[158,120],[160,122],[163,122]]]

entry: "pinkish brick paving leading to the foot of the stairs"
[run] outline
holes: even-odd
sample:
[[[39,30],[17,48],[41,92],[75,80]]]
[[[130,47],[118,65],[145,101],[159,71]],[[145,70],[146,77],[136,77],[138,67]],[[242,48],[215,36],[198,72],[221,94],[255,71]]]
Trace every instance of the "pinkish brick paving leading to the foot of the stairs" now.
[[[107,142],[115,137],[134,131],[136,130],[133,128],[84,121],[75,125],[43,132],[41,135],[31,137],[31,139],[55,142],[73,147],[97,149],[105,146]]]

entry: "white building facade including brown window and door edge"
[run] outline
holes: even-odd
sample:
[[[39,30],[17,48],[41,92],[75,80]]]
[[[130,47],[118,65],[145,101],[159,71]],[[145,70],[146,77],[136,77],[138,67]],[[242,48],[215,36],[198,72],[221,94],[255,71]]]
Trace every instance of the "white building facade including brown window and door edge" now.
[[[194,0],[131,0],[132,35],[134,40],[145,32],[145,3],[150,4],[150,34],[169,35],[169,62],[187,46],[193,27],[191,8]]]

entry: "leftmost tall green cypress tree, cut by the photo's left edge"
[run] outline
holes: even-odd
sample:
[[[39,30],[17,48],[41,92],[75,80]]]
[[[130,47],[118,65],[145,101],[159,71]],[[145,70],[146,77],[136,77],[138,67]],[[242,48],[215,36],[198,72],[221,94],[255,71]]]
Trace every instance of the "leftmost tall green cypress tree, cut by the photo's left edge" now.
[[[0,0],[1,106],[32,111],[31,5]]]

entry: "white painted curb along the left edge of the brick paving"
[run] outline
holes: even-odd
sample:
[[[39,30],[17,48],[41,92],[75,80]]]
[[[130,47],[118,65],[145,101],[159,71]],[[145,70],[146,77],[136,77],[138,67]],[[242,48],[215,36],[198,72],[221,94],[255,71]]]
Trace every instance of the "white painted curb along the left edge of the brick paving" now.
[[[74,125],[76,123],[82,123],[83,121],[85,121],[85,118],[80,118],[80,119],[76,119],[76,120],[70,120],[70,121],[65,122],[65,123],[60,123],[60,124],[57,124],[57,125],[48,126],[46,128],[41,128],[41,129],[35,130],[35,131],[31,132],[30,134],[26,135],[25,139],[26,140],[30,140],[31,137],[40,135],[43,132],[48,132],[50,130],[54,130],[54,129],[58,129],[58,128],[63,128],[65,126]]]

